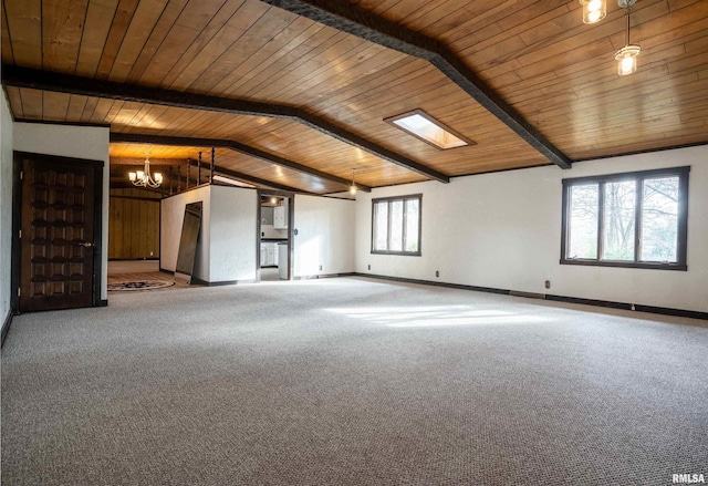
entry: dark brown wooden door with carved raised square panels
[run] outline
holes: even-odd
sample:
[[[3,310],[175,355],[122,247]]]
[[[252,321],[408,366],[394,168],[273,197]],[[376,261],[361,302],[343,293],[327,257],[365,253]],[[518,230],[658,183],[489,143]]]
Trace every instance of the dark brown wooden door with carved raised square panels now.
[[[20,157],[20,311],[91,307],[101,169],[90,161]]]

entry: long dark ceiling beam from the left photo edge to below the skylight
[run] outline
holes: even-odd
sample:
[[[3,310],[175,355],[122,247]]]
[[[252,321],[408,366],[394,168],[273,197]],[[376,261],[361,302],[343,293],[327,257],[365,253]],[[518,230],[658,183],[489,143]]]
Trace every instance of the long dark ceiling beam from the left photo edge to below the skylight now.
[[[46,72],[30,68],[20,68],[11,64],[2,64],[2,83],[17,87],[29,87],[83,96],[158,104],[189,110],[207,110],[219,113],[291,120],[302,123],[339,141],[358,147],[393,164],[405,167],[408,170],[418,173],[427,178],[436,179],[441,183],[450,182],[450,178],[447,175],[435,170],[434,168],[389,151],[386,147],[375,144],[360,135],[356,135],[355,133],[348,132],[341,126],[295,106],[209,96],[206,94],[163,90],[159,87],[139,86],[135,84],[115,83],[112,81]]]

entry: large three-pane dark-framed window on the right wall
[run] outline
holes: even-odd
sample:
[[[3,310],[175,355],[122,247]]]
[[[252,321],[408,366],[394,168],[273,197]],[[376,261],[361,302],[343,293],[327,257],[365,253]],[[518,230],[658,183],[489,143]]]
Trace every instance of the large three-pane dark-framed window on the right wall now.
[[[689,172],[563,179],[561,263],[686,270]]]

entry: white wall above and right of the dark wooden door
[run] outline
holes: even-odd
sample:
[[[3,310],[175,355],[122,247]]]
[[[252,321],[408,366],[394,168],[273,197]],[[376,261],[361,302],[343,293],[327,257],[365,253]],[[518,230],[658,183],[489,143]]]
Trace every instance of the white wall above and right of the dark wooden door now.
[[[75,126],[42,123],[15,123],[13,126],[13,148],[20,152],[59,155],[62,157],[103,161],[103,201],[101,246],[101,299],[108,298],[108,166],[110,128],[101,126]]]

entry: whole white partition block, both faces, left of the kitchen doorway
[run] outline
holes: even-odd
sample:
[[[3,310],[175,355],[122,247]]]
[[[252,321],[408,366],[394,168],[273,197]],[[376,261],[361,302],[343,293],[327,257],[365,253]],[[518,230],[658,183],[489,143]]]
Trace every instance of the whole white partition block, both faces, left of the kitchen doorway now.
[[[256,280],[258,193],[240,187],[205,186],[162,200],[160,268],[175,271],[185,206],[199,200],[192,276],[210,283]]]

